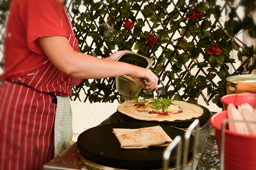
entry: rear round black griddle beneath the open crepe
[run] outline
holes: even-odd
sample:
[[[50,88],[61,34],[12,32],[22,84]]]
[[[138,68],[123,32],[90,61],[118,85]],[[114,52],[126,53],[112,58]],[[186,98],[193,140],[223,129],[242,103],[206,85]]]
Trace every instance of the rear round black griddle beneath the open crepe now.
[[[178,128],[187,128],[191,125],[191,123],[194,122],[194,120],[199,119],[200,121],[200,126],[202,126],[203,124],[205,124],[209,118],[210,118],[210,111],[197,103],[191,103],[191,104],[195,104],[196,106],[200,107],[203,109],[203,114],[199,117],[193,117],[192,119],[187,119],[187,120],[175,120],[175,121],[147,121],[147,120],[139,120],[139,119],[135,119],[131,116],[128,116],[124,113],[121,113],[120,111],[117,111],[118,113],[118,117],[121,121],[126,121],[126,122],[149,122],[149,123],[159,123],[159,124],[163,124],[163,125],[169,125],[169,126],[174,126],[174,127],[178,127]]]

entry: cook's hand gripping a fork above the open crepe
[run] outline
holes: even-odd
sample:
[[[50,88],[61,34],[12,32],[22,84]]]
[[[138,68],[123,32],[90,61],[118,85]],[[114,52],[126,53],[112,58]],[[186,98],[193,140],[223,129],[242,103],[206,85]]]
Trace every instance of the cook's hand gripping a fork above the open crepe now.
[[[150,69],[134,66],[132,70],[133,72],[129,74],[130,77],[140,83],[143,88],[157,90],[158,77]],[[147,81],[145,81],[145,79],[147,79]],[[147,86],[145,86],[144,82]]]

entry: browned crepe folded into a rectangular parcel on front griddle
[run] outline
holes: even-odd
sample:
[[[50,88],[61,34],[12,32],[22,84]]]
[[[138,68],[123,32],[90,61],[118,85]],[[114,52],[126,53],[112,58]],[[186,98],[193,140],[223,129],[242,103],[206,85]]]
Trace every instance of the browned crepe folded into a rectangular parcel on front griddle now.
[[[113,129],[123,149],[142,149],[150,146],[168,146],[172,139],[161,126],[144,127],[139,129]]]

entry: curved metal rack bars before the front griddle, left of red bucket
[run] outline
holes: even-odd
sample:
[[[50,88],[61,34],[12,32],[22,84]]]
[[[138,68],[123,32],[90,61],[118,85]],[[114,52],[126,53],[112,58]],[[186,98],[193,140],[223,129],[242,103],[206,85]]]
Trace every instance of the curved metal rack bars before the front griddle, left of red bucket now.
[[[176,136],[175,139],[170,143],[170,145],[164,150],[163,152],[163,162],[162,162],[162,167],[164,170],[169,169],[169,157],[174,148],[177,146],[177,158],[175,160],[175,169],[180,170],[182,168],[183,170],[186,169],[186,164],[188,162],[188,146],[189,146],[189,138],[191,135],[192,130],[196,128],[196,134],[195,134],[195,139],[193,142],[193,158],[192,158],[192,169],[196,168],[196,151],[197,151],[197,140],[198,140],[198,128],[199,128],[199,120],[196,119],[187,129],[186,133],[184,134],[184,144],[183,144],[183,149],[181,149],[182,145],[182,138],[180,135]],[[183,153],[181,154],[181,150],[183,150]],[[181,157],[183,155],[183,163],[182,166],[180,164]]]

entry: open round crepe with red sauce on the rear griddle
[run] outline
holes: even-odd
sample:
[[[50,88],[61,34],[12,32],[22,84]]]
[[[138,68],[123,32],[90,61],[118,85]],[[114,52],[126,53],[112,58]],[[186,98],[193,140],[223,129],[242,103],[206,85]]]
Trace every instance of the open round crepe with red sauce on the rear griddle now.
[[[143,100],[143,99],[140,99]],[[138,100],[138,101],[140,101]],[[152,99],[145,99],[152,100]],[[174,100],[174,106],[178,106],[180,110],[174,112],[150,112],[145,111],[143,104],[137,104],[134,100],[121,103],[117,110],[134,119],[146,121],[175,121],[175,120],[189,120],[193,117],[199,117],[203,114],[203,109],[184,101]]]

